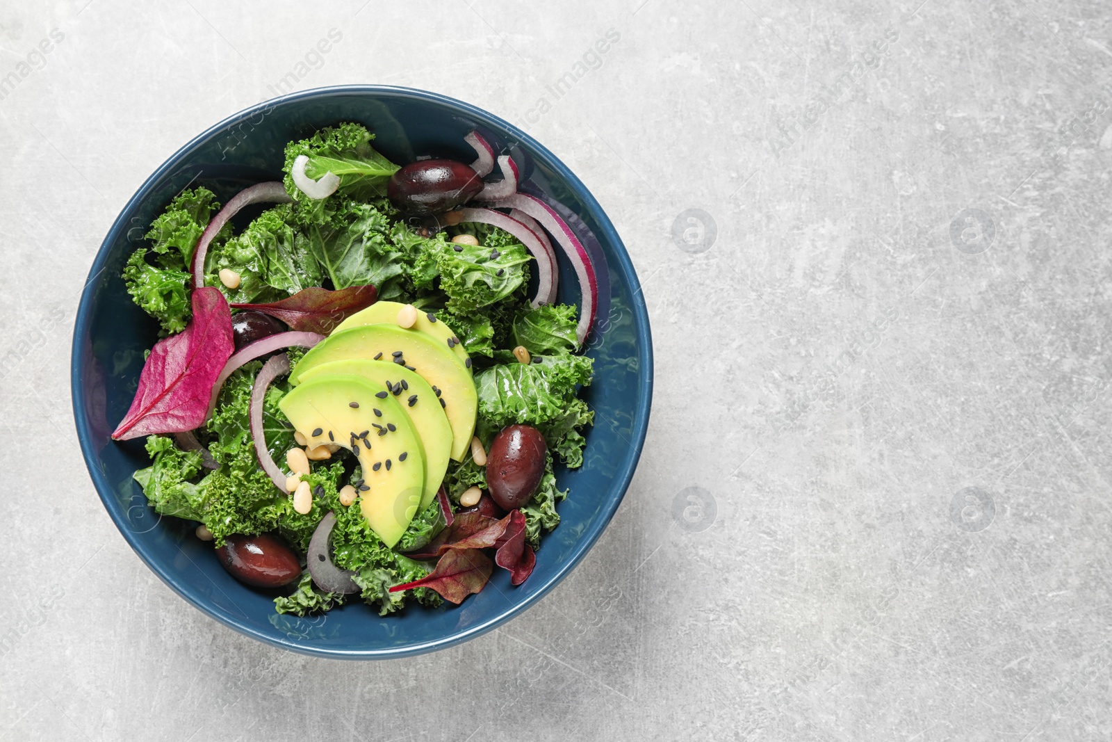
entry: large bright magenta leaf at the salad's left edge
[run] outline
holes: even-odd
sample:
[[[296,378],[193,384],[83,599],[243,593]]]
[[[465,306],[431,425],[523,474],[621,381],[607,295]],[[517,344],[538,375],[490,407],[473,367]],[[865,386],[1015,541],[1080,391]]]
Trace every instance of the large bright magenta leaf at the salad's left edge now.
[[[192,308],[186,329],[155,344],[113,439],[183,433],[205,422],[212,385],[235,347],[231,310],[211,286],[193,290]]]

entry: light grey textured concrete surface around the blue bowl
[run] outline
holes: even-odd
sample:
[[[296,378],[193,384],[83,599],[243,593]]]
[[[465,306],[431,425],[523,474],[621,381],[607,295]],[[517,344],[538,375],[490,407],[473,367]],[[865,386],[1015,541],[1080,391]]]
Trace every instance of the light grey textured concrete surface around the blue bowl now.
[[[1108,3],[545,4],[0,4],[0,740],[1112,738]],[[75,439],[109,225],[291,71],[523,123],[645,285],[620,511],[538,606],[433,655],[202,616]]]

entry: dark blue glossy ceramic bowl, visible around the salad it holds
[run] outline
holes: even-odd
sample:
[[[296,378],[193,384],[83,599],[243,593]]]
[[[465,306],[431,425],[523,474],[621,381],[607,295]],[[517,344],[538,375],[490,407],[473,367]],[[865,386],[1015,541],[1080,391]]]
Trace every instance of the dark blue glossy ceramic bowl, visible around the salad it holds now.
[[[545,536],[525,584],[512,586],[508,573],[497,570],[480,594],[459,606],[415,604],[379,617],[354,602],[322,616],[278,615],[269,595],[239,584],[220,567],[211,544],[193,536],[195,524],[160,518],[147,505],[131,478],[149,463],[142,441],[109,437],[131,402],[143,352],[157,339],[155,323],[130,300],[120,278],[147,225],[187,185],[205,185],[225,201],[246,186],[279,179],[286,142],[339,121],[366,125],[376,133],[375,147],[400,164],[420,155],[470,161],[474,154],[464,135],[478,129],[523,166],[523,190],[567,207],[565,217],[599,275],[599,321],[587,349],[595,358],[595,377],[585,389],[596,423],[587,433],[584,466],[557,468],[560,486],[572,491],[558,507],[560,525]],[[575,274],[560,260],[559,300],[578,299]],[[540,600],[584,557],[617,509],[645,439],[652,386],[652,340],[637,276],[587,188],[552,152],[506,121],[451,98],[405,88],[351,86],[290,95],[237,113],[187,144],[116,219],[89,271],[73,330],[73,415],[81,451],[108,514],[139,557],[189,603],[236,631],[330,657],[398,657],[451,646]]]

